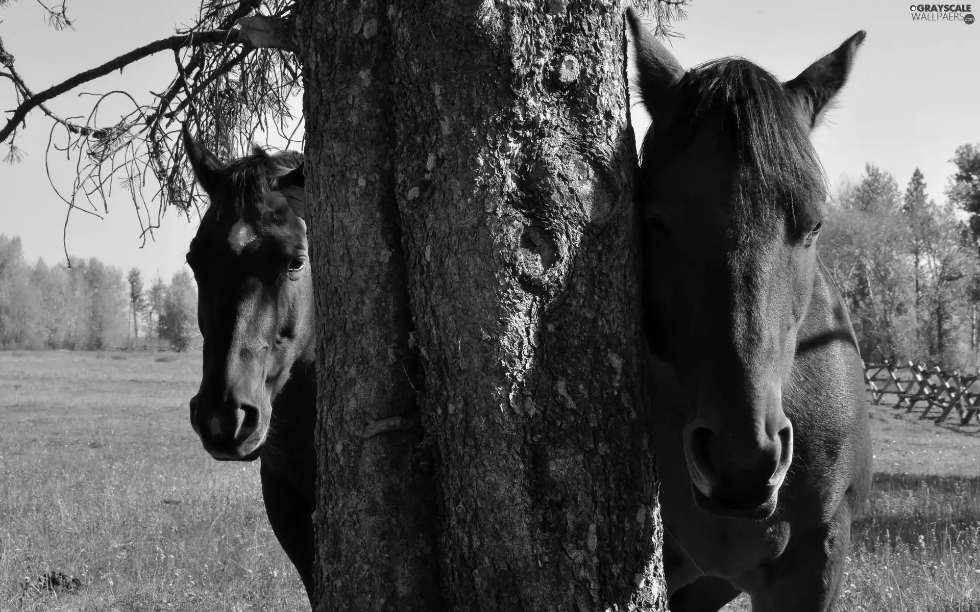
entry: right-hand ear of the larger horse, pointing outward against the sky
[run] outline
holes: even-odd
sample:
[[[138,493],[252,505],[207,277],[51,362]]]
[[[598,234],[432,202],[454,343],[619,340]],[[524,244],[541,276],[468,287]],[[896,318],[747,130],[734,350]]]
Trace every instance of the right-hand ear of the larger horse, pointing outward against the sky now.
[[[810,64],[806,71],[791,81],[784,83],[790,96],[794,99],[803,120],[809,129],[820,123],[824,111],[844,87],[851,73],[858,47],[867,35],[863,29],[844,41],[840,47]]]

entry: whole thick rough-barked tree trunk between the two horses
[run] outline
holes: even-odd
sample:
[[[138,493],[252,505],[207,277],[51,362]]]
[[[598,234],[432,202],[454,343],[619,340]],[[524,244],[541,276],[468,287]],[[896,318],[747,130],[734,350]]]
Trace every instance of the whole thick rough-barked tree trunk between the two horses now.
[[[315,609],[664,609],[624,5],[300,6]]]

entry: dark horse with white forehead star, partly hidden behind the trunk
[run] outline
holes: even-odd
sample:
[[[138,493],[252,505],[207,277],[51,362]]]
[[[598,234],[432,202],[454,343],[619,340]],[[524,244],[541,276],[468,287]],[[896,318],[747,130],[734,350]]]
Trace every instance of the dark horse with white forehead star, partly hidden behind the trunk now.
[[[317,374],[298,153],[222,164],[183,130],[211,204],[190,243],[204,336],[190,423],[221,461],[262,458],[272,531],[313,598]]]

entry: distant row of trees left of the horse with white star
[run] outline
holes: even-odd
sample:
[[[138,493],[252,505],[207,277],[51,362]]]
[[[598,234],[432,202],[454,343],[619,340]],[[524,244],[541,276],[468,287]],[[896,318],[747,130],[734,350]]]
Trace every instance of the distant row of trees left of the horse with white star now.
[[[95,258],[72,267],[30,263],[19,237],[0,234],[0,348],[186,351],[198,337],[197,291],[186,270],[167,283]]]

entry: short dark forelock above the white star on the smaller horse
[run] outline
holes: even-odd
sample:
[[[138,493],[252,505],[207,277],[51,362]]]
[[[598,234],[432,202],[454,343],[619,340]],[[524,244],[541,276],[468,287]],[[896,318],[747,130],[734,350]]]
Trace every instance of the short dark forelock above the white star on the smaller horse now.
[[[223,197],[212,197],[205,212],[206,220],[217,220],[223,209],[233,206],[235,214],[250,220],[260,219],[270,209],[265,195],[275,190],[277,179],[303,164],[303,154],[297,151],[272,152],[253,145],[252,155],[232,160],[218,169],[228,185]],[[218,194],[215,194],[218,195]]]

